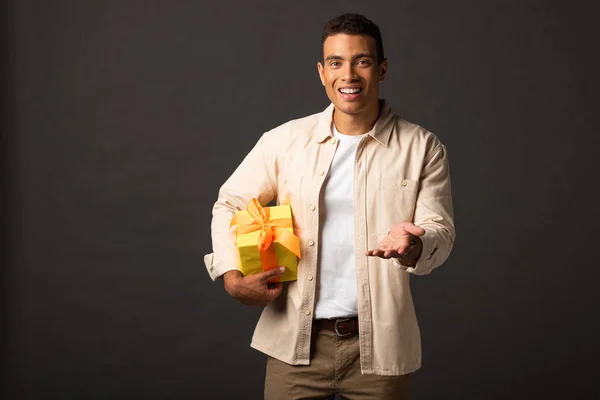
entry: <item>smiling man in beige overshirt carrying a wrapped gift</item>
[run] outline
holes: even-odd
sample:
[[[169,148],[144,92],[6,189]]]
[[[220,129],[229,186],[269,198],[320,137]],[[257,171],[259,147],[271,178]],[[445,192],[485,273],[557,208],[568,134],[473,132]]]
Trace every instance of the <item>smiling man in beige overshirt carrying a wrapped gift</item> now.
[[[379,99],[387,60],[370,20],[329,21],[317,68],[331,105],[260,138],[219,191],[205,263],[264,307],[251,346],[268,355],[266,399],[406,399],[421,366],[409,277],[441,265],[455,237],[446,149]],[[237,270],[229,223],[252,198],[291,204],[297,281]]]

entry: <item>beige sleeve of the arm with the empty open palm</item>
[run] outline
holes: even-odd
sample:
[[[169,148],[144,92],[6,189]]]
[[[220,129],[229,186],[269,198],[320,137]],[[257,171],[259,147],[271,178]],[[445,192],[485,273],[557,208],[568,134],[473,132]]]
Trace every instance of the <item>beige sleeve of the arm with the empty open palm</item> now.
[[[420,178],[413,223],[425,230],[423,250],[415,266],[396,266],[415,275],[429,274],[440,266],[454,246],[454,211],[450,187],[450,168],[446,147],[438,143],[426,159]]]

